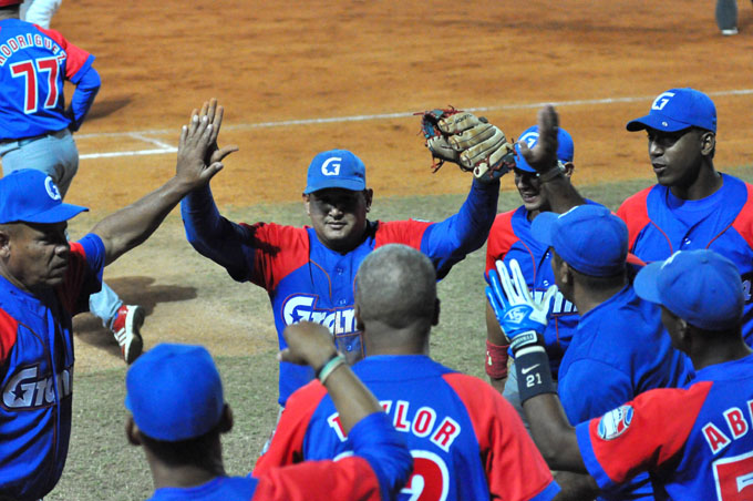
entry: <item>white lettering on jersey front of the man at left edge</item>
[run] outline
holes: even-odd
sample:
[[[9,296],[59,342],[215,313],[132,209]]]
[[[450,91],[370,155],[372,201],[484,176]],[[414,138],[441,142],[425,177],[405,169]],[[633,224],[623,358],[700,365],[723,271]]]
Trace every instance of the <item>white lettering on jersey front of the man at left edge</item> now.
[[[72,370],[58,374],[58,395],[62,400],[72,391]],[[54,378],[39,374],[39,366],[18,370],[2,389],[2,403],[9,409],[35,409],[55,402]]]

